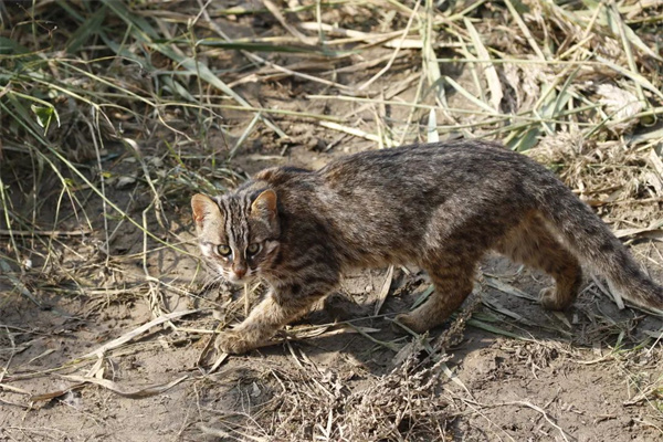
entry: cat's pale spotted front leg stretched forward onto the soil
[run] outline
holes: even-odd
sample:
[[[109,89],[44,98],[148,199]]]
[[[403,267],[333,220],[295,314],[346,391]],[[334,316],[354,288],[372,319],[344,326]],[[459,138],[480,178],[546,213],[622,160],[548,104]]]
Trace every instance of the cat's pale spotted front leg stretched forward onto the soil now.
[[[219,334],[215,347],[229,354],[242,354],[261,346],[281,327],[305,314],[320,295],[294,296],[291,293],[270,292],[249,314],[249,317],[231,330]]]

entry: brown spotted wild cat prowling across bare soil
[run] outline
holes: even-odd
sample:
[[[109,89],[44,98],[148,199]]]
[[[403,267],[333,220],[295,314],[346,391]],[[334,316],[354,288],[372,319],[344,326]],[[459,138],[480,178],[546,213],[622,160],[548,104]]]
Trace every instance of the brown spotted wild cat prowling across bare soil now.
[[[364,151],[311,171],[265,169],[236,190],[191,199],[204,260],[225,280],[261,278],[267,295],[217,338],[240,354],[339,284],[352,267],[414,264],[435,291],[396,320],[417,333],[443,323],[473,290],[490,250],[552,276],[545,308],[569,307],[581,263],[625,299],[663,309],[663,287],[551,171],[480,140]]]

